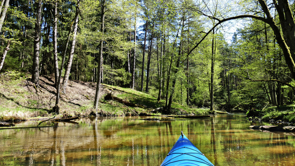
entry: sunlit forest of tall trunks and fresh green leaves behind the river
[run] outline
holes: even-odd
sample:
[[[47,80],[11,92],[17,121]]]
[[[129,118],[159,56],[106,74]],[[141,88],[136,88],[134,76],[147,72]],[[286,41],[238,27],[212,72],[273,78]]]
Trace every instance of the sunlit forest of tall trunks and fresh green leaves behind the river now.
[[[242,112],[295,103],[294,0],[1,0],[0,78],[135,89]],[[1,95],[1,94],[0,94]],[[1,97],[1,96],[0,96]]]

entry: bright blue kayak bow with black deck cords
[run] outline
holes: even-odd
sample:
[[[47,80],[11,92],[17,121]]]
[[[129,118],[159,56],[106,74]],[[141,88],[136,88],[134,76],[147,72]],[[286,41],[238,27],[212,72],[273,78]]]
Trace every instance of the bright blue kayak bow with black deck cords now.
[[[214,166],[194,144],[183,135],[176,141],[161,166]]]

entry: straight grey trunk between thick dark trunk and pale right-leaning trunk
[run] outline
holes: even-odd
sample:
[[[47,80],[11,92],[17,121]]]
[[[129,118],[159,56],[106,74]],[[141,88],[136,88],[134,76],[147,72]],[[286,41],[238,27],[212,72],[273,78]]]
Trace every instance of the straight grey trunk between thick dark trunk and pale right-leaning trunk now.
[[[57,54],[57,0],[55,1],[54,6],[54,22],[53,22],[53,62],[54,62],[54,78],[55,78],[55,87],[57,88],[58,84],[58,54]]]

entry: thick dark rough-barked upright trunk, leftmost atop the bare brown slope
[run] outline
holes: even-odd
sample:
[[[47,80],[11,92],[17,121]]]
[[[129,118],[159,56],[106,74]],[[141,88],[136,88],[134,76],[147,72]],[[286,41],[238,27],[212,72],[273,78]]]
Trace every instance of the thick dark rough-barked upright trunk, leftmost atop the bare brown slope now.
[[[35,34],[34,34],[34,57],[33,57],[33,69],[32,69],[32,82],[36,88],[39,88],[39,50],[41,39],[41,9],[42,0],[36,2],[36,22],[35,22]]]

